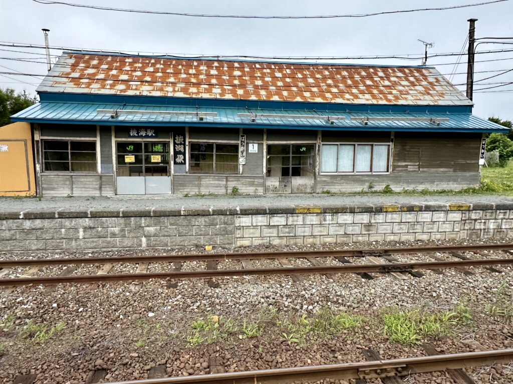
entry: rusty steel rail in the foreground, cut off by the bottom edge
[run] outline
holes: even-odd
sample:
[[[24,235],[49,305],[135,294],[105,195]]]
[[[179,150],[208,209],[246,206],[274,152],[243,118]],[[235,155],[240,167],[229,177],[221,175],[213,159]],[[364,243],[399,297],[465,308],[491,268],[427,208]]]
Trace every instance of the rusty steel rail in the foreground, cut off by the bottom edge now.
[[[214,373],[159,379],[117,381],[111,384],[281,384],[292,380],[371,379],[507,363],[513,360],[513,349],[485,352],[454,353],[404,359],[351,362],[325,366],[266,369],[261,371]]]

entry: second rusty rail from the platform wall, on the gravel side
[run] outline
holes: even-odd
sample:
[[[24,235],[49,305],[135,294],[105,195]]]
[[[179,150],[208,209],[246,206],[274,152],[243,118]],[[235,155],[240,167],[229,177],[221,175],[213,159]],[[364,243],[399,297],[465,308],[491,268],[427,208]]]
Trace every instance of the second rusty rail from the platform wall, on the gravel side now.
[[[489,265],[511,265],[513,259],[481,259],[458,261],[435,261],[418,263],[388,264],[343,264],[312,267],[221,269],[180,272],[114,273],[77,276],[28,277],[0,279],[0,286],[21,286],[29,284],[92,283],[101,281],[150,280],[150,279],[207,279],[250,275],[290,275],[359,272],[407,272],[421,269],[447,269],[458,267],[483,267]]]

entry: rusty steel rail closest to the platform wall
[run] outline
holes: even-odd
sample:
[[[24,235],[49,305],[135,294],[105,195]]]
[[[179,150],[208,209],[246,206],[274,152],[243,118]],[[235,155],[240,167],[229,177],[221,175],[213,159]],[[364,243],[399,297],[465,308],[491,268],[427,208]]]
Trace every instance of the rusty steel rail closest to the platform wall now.
[[[0,260],[0,268],[44,266],[44,265],[78,265],[78,264],[111,264],[111,263],[157,263],[157,262],[188,262],[188,261],[219,261],[219,260],[250,260],[250,259],[299,259],[307,257],[365,257],[386,256],[407,253],[429,252],[471,252],[476,250],[513,250],[513,244],[476,244],[441,247],[411,247],[382,249],[341,249],[312,251],[278,251],[278,252],[239,252],[239,253],[205,253],[205,254],[172,254],[155,256],[120,256],[98,258],[62,258],[62,259],[21,259]]]

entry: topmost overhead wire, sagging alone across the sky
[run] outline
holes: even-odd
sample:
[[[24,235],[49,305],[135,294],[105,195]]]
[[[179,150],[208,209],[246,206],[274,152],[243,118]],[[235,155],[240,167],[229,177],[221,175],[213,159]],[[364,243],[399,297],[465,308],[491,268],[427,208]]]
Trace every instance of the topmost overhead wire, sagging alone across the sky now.
[[[482,6],[482,5],[494,4],[494,3],[502,3],[502,2],[509,1],[509,0],[494,0],[494,1],[484,2],[484,3],[464,4],[464,5],[441,7],[441,8],[422,8],[422,9],[407,9],[407,10],[398,10],[398,11],[384,11],[384,12],[360,13],[360,14],[317,15],[317,16],[258,16],[258,15],[202,14],[202,13],[187,13],[187,12],[150,11],[150,10],[129,9],[129,8],[112,8],[112,7],[102,7],[102,6],[86,5],[86,4],[54,2],[54,1],[50,1],[50,0],[32,0],[32,1],[35,3],[40,3],[40,4],[45,4],[45,5],[58,4],[58,5],[65,5],[65,6],[69,6],[69,7],[90,8],[90,9],[96,9],[96,10],[101,10],[101,11],[148,13],[148,14],[158,14],[158,15],[189,16],[189,17],[255,18],[255,19],[323,19],[323,18],[344,18],[344,17],[359,18],[359,17],[368,17],[368,16],[389,15],[389,14],[410,13],[410,12],[424,12],[424,11],[445,11],[445,10],[450,10],[450,9],[477,7],[477,6]]]

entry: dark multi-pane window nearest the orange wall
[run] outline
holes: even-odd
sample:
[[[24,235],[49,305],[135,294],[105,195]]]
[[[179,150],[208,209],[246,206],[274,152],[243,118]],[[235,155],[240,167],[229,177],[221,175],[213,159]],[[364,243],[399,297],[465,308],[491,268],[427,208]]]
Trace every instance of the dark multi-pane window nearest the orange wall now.
[[[97,172],[96,142],[43,140],[44,172]]]

